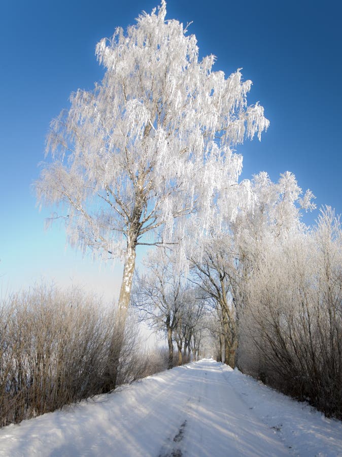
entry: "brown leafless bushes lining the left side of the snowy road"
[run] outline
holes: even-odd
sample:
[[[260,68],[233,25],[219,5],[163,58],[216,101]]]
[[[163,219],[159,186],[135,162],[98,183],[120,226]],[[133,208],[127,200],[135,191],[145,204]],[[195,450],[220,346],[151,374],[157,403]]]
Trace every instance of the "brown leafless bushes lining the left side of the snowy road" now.
[[[108,354],[120,350],[116,325],[112,309],[76,289],[64,293],[42,286],[3,299],[1,425],[101,393],[111,373],[118,372],[120,382],[143,376],[147,362],[136,353],[128,327],[119,367],[109,365]]]

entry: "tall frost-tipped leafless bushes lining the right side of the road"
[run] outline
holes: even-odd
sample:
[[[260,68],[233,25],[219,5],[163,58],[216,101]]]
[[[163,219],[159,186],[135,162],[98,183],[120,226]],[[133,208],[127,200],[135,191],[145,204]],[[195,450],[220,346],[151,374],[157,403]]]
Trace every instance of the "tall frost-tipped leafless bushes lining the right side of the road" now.
[[[330,208],[310,233],[264,245],[245,284],[239,364],[342,417],[342,230]]]

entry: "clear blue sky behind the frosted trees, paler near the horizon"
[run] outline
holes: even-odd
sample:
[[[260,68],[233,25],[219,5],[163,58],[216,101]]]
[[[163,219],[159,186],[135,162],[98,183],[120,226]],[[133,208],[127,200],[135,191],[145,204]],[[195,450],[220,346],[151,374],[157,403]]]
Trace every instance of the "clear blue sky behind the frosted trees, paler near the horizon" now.
[[[121,267],[93,264],[65,246],[63,228],[44,231],[30,186],[39,176],[50,120],[71,92],[91,89],[104,72],[96,43],[117,25],[134,23],[156,1],[4,0],[0,8],[0,292],[42,278],[117,295]],[[202,2],[169,0],[167,16],[196,35],[215,70],[243,68],[270,127],[261,143],[246,142],[243,178],[287,170],[311,188],[318,207],[342,212],[340,174],[342,28],[340,3],[326,1]],[[318,211],[305,216],[313,222]]]

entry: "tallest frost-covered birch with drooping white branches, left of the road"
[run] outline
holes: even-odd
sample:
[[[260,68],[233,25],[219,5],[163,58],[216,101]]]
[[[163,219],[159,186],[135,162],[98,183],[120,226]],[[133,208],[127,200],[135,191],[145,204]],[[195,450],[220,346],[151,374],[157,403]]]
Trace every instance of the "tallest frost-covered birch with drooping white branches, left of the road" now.
[[[195,36],[165,15],[162,0],[97,44],[105,76],[51,122],[36,186],[39,202],[61,204],[72,246],[124,261],[123,322],[136,247],[184,238],[191,214],[220,223],[219,202],[233,217],[242,157],[232,146],[268,126],[247,105],[251,81],[213,71],[215,57],[199,59]]]

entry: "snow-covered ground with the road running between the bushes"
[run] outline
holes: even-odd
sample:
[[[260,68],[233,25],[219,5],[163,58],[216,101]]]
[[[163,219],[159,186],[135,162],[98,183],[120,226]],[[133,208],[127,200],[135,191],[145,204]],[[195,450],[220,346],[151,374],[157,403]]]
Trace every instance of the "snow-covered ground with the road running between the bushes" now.
[[[342,423],[213,360],[0,430],[1,456],[342,455]]]

